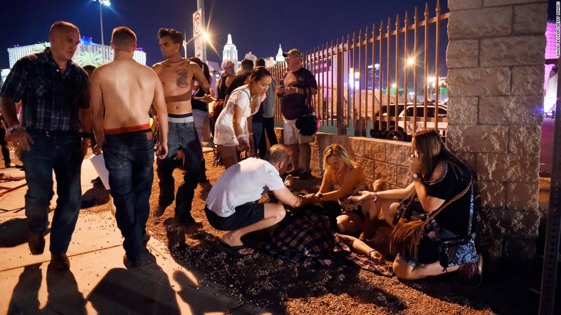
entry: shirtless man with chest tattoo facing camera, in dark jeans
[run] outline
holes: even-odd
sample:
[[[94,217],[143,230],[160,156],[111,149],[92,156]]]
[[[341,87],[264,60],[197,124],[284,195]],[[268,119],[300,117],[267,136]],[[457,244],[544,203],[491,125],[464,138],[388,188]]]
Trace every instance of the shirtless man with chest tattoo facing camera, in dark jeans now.
[[[196,79],[206,94],[209,93],[210,84],[206,81],[203,70],[194,62],[181,58],[180,49],[183,45],[181,32],[172,29],[160,29],[158,31],[162,54],[167,60],[152,66],[158,74],[164,87],[165,106],[168,109],[169,154],[164,159],[159,159],[158,178],[160,180],[160,196],[158,209],[154,211],[154,217],[164,214],[165,208],[173,203],[175,184],[173,170],[177,164],[173,161],[177,151],[185,153],[183,167],[185,175],[183,184],[177,189],[175,219],[183,224],[199,224],[191,215],[191,203],[198,184],[198,177],[204,166],[203,148],[197,136],[195,123],[191,109],[191,83]],[[197,98],[205,100],[209,95]],[[159,121],[165,121],[158,117]]]

